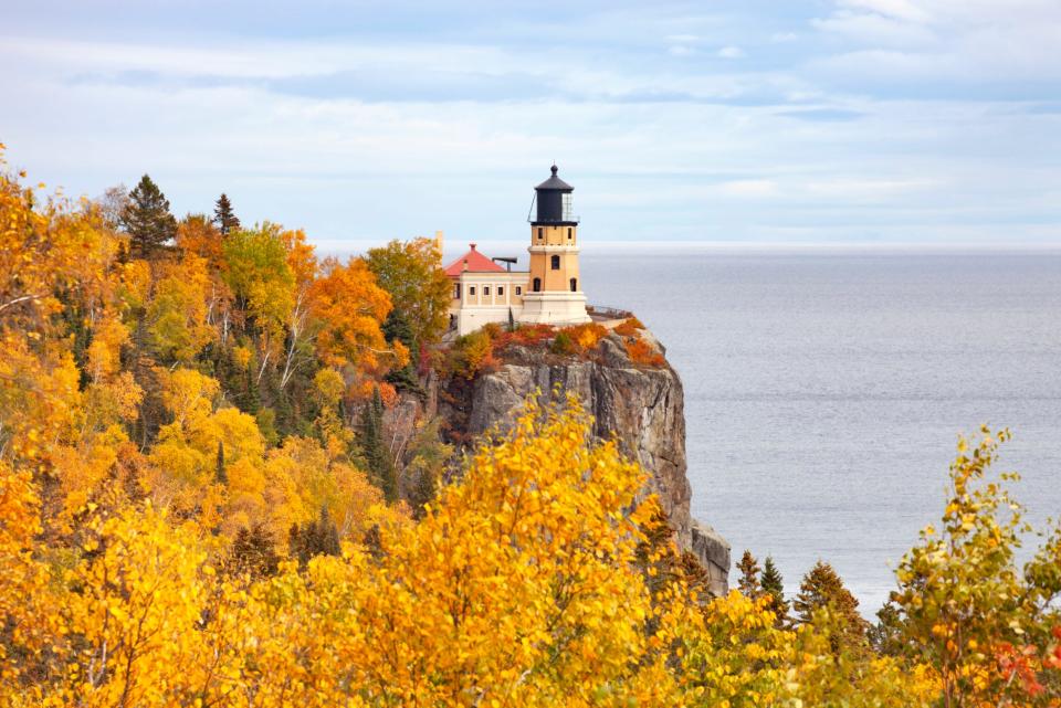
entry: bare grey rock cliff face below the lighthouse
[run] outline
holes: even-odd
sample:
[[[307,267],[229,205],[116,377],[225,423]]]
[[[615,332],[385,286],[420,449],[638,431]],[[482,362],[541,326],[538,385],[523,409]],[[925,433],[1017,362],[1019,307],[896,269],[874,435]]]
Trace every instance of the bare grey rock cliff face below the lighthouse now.
[[[651,336],[647,338],[662,352]],[[547,400],[576,393],[593,415],[593,434],[603,440],[614,432],[622,452],[651,473],[679,546],[692,551],[707,570],[713,592],[724,594],[729,545],[693,519],[689,510],[691,489],[685,476],[685,400],[681,379],[670,366],[632,363],[616,335],[602,339],[599,347],[600,356],[593,361],[511,347],[496,371],[476,377],[470,391],[460,400],[440,403],[439,412],[474,436],[495,425],[502,430],[511,425],[517,409],[535,391]]]

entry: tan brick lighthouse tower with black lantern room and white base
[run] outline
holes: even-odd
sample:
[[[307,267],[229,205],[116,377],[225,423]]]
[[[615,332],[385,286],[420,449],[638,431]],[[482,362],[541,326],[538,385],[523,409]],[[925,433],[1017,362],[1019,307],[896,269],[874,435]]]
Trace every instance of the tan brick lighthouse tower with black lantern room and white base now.
[[[519,321],[577,325],[590,321],[578,275],[578,218],[575,188],[556,175],[534,188],[537,211],[530,222],[530,277]]]

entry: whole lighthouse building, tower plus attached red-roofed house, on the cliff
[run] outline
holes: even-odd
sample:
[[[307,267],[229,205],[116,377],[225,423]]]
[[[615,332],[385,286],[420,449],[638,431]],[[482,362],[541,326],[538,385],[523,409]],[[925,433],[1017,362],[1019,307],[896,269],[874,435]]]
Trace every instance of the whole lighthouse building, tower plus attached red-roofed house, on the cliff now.
[[[486,323],[577,325],[589,321],[578,276],[578,219],[571,211],[575,188],[556,175],[534,188],[529,271],[512,271],[515,258],[492,260],[471,244],[445,266],[453,283],[450,320],[459,335]],[[506,266],[498,265],[502,261]]]

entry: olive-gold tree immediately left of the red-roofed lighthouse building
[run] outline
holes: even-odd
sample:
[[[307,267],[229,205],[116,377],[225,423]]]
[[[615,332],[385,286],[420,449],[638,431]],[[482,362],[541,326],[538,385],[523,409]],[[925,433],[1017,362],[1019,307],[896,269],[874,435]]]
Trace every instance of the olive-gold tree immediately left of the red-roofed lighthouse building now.
[[[434,241],[391,241],[370,249],[368,268],[390,295],[391,303],[411,329],[413,353],[438,341],[449,323],[450,278],[442,271],[442,254]],[[406,342],[409,346],[409,342]]]

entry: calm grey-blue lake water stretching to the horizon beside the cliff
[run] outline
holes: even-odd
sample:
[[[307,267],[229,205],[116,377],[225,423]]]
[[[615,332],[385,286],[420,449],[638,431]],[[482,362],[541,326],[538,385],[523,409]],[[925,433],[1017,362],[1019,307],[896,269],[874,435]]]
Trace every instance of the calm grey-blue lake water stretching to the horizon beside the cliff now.
[[[789,593],[821,558],[874,612],[981,423],[1015,432],[1001,466],[1032,518],[1061,512],[1061,253],[587,246],[581,265],[682,377],[693,515],[734,562],[771,554]]]

